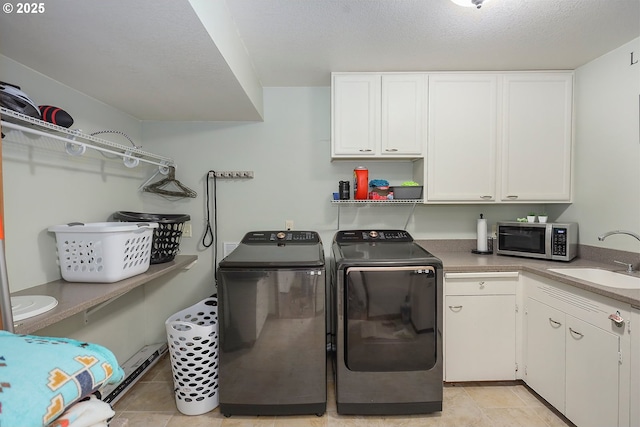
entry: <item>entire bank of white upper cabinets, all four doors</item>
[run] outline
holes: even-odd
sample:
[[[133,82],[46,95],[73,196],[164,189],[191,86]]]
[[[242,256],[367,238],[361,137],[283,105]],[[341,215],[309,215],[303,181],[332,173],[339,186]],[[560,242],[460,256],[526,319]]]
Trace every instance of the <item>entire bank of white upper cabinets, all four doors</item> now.
[[[417,159],[425,203],[566,203],[570,71],[333,73],[331,156]]]

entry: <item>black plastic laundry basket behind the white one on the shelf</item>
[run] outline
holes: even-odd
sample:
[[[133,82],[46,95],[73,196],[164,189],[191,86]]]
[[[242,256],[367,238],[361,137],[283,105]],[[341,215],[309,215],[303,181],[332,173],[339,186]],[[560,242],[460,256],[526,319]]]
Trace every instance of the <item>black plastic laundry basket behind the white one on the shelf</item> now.
[[[157,222],[158,228],[153,230],[151,264],[162,264],[173,260],[178,254],[184,223],[191,217],[186,214],[118,211],[113,214],[113,219],[120,222]]]

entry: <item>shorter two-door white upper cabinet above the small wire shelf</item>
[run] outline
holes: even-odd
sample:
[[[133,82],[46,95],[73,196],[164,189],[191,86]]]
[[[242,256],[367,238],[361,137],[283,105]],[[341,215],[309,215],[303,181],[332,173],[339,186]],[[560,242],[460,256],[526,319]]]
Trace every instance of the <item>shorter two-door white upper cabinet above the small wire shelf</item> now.
[[[334,73],[334,158],[416,158],[424,147],[426,75]]]

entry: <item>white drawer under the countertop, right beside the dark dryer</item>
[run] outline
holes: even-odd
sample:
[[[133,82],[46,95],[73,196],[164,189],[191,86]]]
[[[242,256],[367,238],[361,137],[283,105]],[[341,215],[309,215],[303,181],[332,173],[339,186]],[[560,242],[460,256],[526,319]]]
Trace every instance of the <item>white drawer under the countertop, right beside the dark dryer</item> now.
[[[445,295],[515,295],[517,271],[445,273]]]

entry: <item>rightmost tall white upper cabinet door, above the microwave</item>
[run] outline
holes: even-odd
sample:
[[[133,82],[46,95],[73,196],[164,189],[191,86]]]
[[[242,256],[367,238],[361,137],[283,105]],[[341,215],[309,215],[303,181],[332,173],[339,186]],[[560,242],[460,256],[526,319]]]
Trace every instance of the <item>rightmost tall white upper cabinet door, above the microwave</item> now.
[[[505,74],[503,201],[571,201],[573,75]]]

